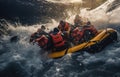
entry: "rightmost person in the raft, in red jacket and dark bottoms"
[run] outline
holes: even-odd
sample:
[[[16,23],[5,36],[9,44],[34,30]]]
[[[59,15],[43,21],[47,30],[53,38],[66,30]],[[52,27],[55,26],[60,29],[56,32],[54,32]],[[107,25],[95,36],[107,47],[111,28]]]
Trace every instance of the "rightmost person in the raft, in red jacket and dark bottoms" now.
[[[95,37],[98,34],[97,29],[91,24],[90,21],[87,22],[85,26],[82,28],[83,31],[83,38],[85,41],[88,41]]]

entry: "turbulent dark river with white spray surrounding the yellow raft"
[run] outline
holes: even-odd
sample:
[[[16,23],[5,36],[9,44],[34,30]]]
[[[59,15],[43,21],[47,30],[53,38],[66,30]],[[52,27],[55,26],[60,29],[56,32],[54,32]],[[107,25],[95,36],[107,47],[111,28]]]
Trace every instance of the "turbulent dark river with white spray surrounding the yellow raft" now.
[[[120,1],[107,0],[92,9],[83,8],[82,3],[85,2],[0,0],[0,77],[120,77]],[[73,24],[76,14],[87,17],[97,29],[115,29],[118,41],[96,54],[84,51],[59,59],[41,55],[41,49],[29,43],[30,35],[42,24],[50,30],[60,19]]]

